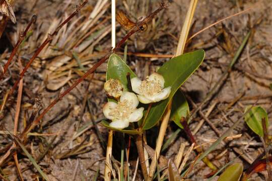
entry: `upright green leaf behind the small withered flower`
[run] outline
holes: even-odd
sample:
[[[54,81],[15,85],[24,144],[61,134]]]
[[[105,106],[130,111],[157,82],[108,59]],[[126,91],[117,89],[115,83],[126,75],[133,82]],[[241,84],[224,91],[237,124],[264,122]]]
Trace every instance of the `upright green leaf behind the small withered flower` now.
[[[106,79],[119,79],[124,85],[124,91],[127,91],[127,72],[130,73],[130,78],[137,76],[118,55],[111,54],[108,61]]]

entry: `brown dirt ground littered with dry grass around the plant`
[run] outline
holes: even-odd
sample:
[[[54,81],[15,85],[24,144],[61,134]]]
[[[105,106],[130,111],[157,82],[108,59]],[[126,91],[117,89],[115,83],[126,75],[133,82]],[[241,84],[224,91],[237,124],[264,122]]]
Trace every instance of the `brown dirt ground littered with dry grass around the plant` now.
[[[99,1],[100,2],[100,1]],[[128,16],[137,21],[141,16],[147,16],[152,10],[159,7],[160,1],[116,1],[117,9],[127,12]],[[23,43],[17,56],[20,57],[23,67],[29,61],[35,50],[46,39],[48,33],[52,33],[56,26],[76,10],[81,1],[23,1],[17,0],[14,11],[17,24],[8,23],[6,31],[0,39],[0,65],[8,60],[12,47],[18,40],[19,32],[22,32],[33,14],[37,15],[37,22],[32,26],[32,34]],[[89,1],[79,15],[66,24],[59,33],[53,37],[49,46],[46,46],[34,60],[23,78],[22,106],[19,117],[19,131],[23,130],[24,120],[29,120],[33,113],[35,98],[41,98],[40,109],[46,108],[58,95],[74,83],[84,70],[79,69],[75,54],[82,61],[85,68],[92,67],[111,46],[110,31],[110,3],[96,6],[97,1]],[[189,1],[173,1],[171,6],[149,24],[146,32],[133,35],[127,41],[128,52],[153,54],[153,57],[141,57],[129,54],[127,63],[131,69],[141,78],[154,72],[169,58],[157,58],[159,55],[175,54],[179,33],[182,28]],[[219,81],[219,78],[227,70],[228,64],[233,59],[246,34],[251,30],[249,41],[241,56],[224,79],[222,86],[210,99],[201,111],[206,114],[212,109],[208,119],[222,135],[244,113],[247,106],[254,104],[262,106],[268,113],[269,123],[272,121],[271,98],[272,92],[269,84],[272,83],[272,2],[271,1],[199,1],[194,15],[193,26],[190,35],[215,23],[225,17],[234,15],[247,8],[253,7],[242,15],[225,20],[214,27],[200,33],[188,42],[185,51],[204,49],[206,57],[200,68],[182,85],[181,89],[195,104],[200,104],[203,98],[211,91],[211,88]],[[94,13],[96,12],[97,13]],[[89,34],[88,34],[89,33]],[[86,37],[84,37],[86,35]],[[120,41],[125,31],[117,24],[116,39]],[[79,41],[82,40],[82,41]],[[123,47],[118,51],[123,55]],[[74,55],[73,55],[74,53]],[[169,57],[170,57],[169,56]],[[0,80],[0,101],[9,88],[19,77],[20,65],[18,59],[14,59],[5,79]],[[50,180],[92,180],[98,170],[98,180],[103,180],[105,165],[105,149],[108,130],[101,124],[97,124],[99,133],[104,142],[98,137],[98,131],[93,122],[99,122],[102,118],[102,106],[107,97],[103,91],[105,81],[106,63],[103,63],[85,81],[79,84],[73,91],[59,101],[42,119],[32,132],[48,135],[30,136],[25,144],[28,151],[37,160],[47,149],[46,155],[39,161],[42,170],[46,172]],[[16,113],[17,92],[6,103],[0,120],[1,130],[13,131]],[[190,110],[193,105],[188,101]],[[38,112],[39,114],[40,112]],[[202,120],[196,114],[189,127],[194,130]],[[82,129],[87,129],[81,132]],[[155,142],[159,127],[156,126],[147,132],[150,146],[155,148]],[[178,128],[173,122],[169,123],[165,140]],[[268,128],[272,133],[271,127]],[[76,136],[77,133],[81,133]],[[232,135],[242,134],[233,139],[227,145],[220,144],[217,149],[209,154],[213,163],[222,167],[227,161],[236,158],[235,162],[242,162],[244,168],[254,161],[262,152],[263,147],[260,138],[254,134],[248,126],[241,122]],[[149,136],[150,135],[150,136]],[[120,161],[119,141],[121,134],[114,134],[113,156]],[[206,122],[195,134],[199,145],[203,144],[206,150],[218,135]],[[128,137],[125,139],[126,145]],[[133,142],[133,139],[131,138]],[[7,152],[4,148],[12,140],[6,134],[0,135],[0,153]],[[186,144],[185,151],[190,143],[186,134],[181,131],[170,146],[162,152],[166,158],[175,158],[181,143]],[[80,148],[80,150],[77,150]],[[137,160],[137,151],[134,143],[131,143],[130,151],[130,180],[132,179]],[[72,150],[72,151],[71,151]],[[74,151],[73,151],[74,150]],[[220,155],[221,153],[224,155]],[[67,154],[65,154],[67,153]],[[196,152],[192,152],[189,161],[192,161]],[[220,155],[220,156],[218,156]],[[241,156],[242,155],[242,156]],[[237,158],[239,156],[239,158]],[[33,168],[26,155],[18,153],[19,164],[26,180],[37,180],[39,175]],[[114,166],[114,165],[113,165]],[[10,156],[1,166],[1,174],[5,173],[10,180],[19,180],[13,157]],[[196,164],[187,175],[189,180],[205,180],[205,175],[212,170],[200,162]],[[114,171],[117,176],[117,170]],[[252,180],[263,180],[266,172],[253,174]],[[135,180],[142,180],[140,166]]]

